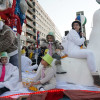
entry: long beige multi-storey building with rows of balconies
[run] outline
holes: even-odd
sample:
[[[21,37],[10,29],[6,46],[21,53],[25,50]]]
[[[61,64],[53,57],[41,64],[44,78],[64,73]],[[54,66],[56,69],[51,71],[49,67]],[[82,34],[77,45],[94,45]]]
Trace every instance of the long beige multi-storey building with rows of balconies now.
[[[46,38],[49,31],[53,31],[56,40],[61,42],[61,35],[48,14],[43,10],[37,0],[27,0],[28,11],[26,13],[27,24],[23,25],[21,35],[22,45],[30,45],[36,41],[36,33],[39,31],[40,40]]]

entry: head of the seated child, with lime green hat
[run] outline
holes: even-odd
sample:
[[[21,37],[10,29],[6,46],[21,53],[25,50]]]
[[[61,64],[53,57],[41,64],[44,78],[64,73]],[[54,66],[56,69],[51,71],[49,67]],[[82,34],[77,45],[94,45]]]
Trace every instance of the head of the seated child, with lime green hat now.
[[[53,61],[53,58],[52,58],[49,54],[46,54],[46,55],[42,58],[41,64],[42,64],[44,67],[51,66],[52,61]]]

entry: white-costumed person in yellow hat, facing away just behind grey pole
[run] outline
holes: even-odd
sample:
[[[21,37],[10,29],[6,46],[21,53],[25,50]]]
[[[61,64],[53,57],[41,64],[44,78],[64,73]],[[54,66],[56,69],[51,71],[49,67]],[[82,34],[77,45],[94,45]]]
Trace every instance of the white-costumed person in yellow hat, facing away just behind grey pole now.
[[[22,55],[21,55],[21,68],[22,68],[22,72],[32,72],[34,69],[36,69],[38,67],[37,64],[32,66],[32,61],[31,59],[29,59],[28,57],[25,56],[25,50],[23,49],[21,51]]]

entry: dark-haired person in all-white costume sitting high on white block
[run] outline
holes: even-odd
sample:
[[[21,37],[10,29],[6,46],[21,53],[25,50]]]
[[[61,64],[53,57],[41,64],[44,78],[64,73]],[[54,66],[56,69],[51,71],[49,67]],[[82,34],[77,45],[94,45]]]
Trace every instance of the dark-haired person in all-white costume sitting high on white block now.
[[[79,21],[74,21],[72,23],[72,29],[67,36],[67,54],[68,57],[72,58],[86,58],[87,64],[91,73],[96,72],[96,63],[94,54],[92,51],[87,49],[81,49],[80,46],[83,45],[85,38],[81,34],[81,23]]]

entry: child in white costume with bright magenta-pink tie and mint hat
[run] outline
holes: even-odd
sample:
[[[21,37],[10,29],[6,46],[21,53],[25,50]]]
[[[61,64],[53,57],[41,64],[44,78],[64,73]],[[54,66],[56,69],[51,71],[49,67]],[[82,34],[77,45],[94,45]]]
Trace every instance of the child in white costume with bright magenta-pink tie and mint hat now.
[[[7,91],[19,89],[19,71],[8,62],[7,52],[0,53],[0,95]]]

